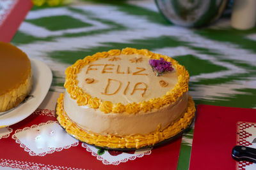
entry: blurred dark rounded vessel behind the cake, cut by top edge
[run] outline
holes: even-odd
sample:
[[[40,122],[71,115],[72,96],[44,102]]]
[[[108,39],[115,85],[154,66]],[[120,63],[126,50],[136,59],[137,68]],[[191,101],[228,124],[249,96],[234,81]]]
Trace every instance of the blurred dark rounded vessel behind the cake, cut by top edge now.
[[[168,21],[183,27],[202,27],[217,20],[228,0],[155,0]]]

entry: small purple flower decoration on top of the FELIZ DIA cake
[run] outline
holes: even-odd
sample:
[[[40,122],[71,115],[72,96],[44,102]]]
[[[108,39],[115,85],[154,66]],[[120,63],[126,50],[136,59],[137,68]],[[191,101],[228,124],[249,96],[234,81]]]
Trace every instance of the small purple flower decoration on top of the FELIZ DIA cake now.
[[[168,62],[163,58],[160,58],[160,60],[150,59],[149,65],[156,72],[156,76],[160,76],[166,71],[173,71],[172,62]]]

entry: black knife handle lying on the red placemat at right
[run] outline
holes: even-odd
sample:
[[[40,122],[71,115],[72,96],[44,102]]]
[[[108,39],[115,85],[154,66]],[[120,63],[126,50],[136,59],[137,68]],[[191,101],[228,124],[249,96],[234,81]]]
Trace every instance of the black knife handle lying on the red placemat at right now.
[[[232,158],[237,161],[246,160],[256,163],[256,149],[246,146],[234,146]]]

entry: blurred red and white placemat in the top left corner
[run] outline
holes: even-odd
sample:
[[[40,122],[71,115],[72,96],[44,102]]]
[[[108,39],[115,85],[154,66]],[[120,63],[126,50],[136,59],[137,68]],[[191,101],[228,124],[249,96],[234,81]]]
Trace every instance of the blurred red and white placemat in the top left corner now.
[[[0,1],[0,41],[11,41],[32,6],[31,0]]]

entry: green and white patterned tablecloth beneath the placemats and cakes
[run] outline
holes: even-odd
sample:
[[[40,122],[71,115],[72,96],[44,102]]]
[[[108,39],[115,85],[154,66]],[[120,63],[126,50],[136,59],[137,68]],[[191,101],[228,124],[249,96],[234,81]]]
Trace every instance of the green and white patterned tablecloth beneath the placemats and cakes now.
[[[54,74],[63,92],[65,69],[86,55],[125,47],[169,55],[190,73],[196,104],[256,108],[256,28],[237,31],[230,16],[202,29],[167,22],[154,1],[76,1],[34,7],[12,42]],[[193,128],[184,134],[177,169],[188,169]]]

